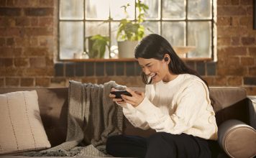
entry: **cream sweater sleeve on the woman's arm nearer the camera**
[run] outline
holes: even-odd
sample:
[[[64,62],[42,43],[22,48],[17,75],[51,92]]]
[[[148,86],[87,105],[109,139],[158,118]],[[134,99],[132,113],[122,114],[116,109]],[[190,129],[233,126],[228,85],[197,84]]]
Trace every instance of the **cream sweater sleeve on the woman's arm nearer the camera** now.
[[[206,85],[196,81],[189,84],[183,91],[177,92],[177,98],[173,98],[176,100],[177,108],[171,114],[163,113],[148,98],[145,98],[136,108],[142,113],[151,129],[181,134],[193,126],[203,103],[207,101],[206,88]]]

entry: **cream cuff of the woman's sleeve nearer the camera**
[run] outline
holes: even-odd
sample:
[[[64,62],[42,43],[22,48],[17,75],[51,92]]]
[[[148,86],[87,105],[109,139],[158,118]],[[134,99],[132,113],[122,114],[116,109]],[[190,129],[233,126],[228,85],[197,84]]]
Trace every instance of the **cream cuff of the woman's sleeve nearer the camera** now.
[[[145,97],[142,101],[142,103],[139,104],[139,106],[136,107],[138,111],[140,111],[144,116],[147,117],[154,117],[158,116],[159,113],[161,113],[160,109],[154,106],[147,97]]]

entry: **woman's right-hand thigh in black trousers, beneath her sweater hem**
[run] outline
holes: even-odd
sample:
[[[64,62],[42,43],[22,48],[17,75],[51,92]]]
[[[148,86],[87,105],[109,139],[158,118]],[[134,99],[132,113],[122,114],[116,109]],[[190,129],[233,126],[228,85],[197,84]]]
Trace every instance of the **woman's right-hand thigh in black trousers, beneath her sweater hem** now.
[[[188,134],[157,132],[147,139],[150,157],[211,157],[206,140]]]

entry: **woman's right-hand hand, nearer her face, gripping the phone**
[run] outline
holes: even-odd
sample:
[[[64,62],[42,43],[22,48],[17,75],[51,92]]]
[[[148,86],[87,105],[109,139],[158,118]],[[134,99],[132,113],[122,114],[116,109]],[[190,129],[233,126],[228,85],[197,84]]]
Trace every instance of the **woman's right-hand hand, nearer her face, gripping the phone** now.
[[[136,107],[139,106],[140,103],[142,103],[143,99],[145,98],[145,93],[139,92],[137,90],[131,90],[129,88],[126,89],[129,93],[132,94],[132,96],[126,96],[122,94],[122,99],[126,103],[132,104],[132,106]]]

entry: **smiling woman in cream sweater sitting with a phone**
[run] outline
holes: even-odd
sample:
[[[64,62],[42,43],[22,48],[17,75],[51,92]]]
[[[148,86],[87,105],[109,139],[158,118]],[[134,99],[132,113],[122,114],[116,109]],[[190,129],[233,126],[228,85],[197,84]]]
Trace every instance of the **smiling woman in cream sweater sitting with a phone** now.
[[[157,132],[148,138],[111,136],[106,151],[115,157],[211,157],[207,140],[217,139],[217,126],[206,81],[158,34],[142,39],[135,58],[145,93],[127,88],[132,96],[109,96],[133,126]]]

